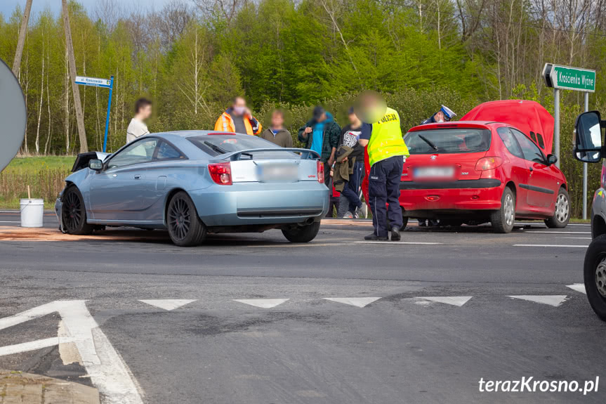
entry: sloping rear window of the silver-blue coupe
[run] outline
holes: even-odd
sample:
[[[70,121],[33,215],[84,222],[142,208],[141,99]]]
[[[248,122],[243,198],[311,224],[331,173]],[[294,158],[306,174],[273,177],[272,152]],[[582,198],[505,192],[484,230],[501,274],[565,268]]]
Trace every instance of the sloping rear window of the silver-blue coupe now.
[[[274,143],[256,136],[245,135],[200,135],[189,137],[187,140],[213,157],[241,150],[279,148]],[[255,152],[254,154],[255,158],[263,157],[264,159],[297,157],[295,153],[289,152]],[[248,157],[253,158],[252,155]]]

